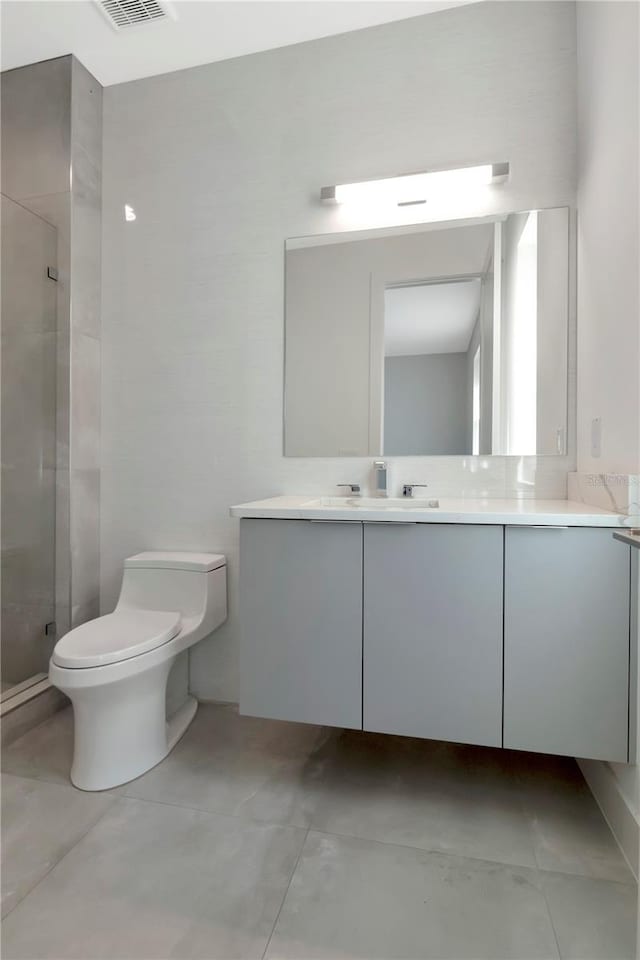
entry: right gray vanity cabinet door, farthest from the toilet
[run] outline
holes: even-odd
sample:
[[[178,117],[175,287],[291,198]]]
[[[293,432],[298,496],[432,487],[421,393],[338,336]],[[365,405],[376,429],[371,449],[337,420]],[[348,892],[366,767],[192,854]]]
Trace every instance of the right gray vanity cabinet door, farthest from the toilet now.
[[[505,747],[627,759],[629,576],[610,530],[507,528]]]

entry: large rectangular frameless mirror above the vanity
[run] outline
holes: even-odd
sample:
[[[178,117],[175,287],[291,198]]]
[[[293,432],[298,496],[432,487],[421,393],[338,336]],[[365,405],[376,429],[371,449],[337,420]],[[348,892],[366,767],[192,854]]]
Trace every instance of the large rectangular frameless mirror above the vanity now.
[[[286,245],[285,455],[566,450],[569,211]]]

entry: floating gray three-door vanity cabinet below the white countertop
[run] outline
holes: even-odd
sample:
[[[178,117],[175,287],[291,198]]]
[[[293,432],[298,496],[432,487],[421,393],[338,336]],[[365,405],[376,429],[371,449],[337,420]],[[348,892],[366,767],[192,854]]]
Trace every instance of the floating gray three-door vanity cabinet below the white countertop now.
[[[240,628],[242,713],[628,759],[610,529],[244,518]]]

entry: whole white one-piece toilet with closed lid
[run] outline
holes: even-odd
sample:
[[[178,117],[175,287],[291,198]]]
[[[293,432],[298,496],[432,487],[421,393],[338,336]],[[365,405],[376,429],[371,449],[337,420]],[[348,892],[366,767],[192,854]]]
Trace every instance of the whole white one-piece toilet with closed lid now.
[[[225,557],[148,552],[125,560],[115,611],[62,637],[49,664],[51,683],[73,704],[77,787],[115,787],[166,757],[198,708],[189,697],[167,722],[169,671],[226,617]]]

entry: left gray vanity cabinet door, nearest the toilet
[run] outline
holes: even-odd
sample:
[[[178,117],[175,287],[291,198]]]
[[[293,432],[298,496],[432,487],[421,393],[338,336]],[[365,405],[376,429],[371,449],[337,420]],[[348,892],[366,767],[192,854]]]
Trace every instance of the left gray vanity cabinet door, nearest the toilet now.
[[[240,523],[240,711],[362,727],[362,524]]]

